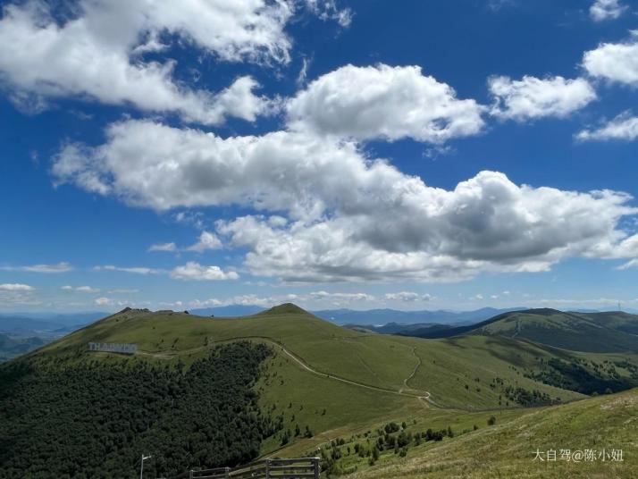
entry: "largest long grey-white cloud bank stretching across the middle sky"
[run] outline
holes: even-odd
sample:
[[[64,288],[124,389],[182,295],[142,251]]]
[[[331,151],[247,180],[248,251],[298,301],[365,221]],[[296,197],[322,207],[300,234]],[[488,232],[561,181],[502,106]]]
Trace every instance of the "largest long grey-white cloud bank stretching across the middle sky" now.
[[[612,256],[627,238],[622,218],[638,214],[621,192],[516,185],[500,172],[434,188],[365,157],[356,144],[302,132],[221,139],[129,121],[108,137],[102,147],[74,147],[83,152],[80,175],[160,210],[261,210],[218,222],[216,232],[230,247],[248,249],[251,273],[287,281],[458,281],[481,271],[547,271],[569,256]],[[67,154],[65,147],[54,172]],[[58,181],[91,190],[78,172],[64,172]]]

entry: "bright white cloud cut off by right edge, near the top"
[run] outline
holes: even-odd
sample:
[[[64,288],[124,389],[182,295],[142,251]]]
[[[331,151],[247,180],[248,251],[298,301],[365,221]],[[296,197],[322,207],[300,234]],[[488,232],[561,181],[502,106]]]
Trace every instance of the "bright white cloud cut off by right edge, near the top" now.
[[[585,52],[583,68],[592,77],[638,86],[638,32],[624,43],[602,43]]]

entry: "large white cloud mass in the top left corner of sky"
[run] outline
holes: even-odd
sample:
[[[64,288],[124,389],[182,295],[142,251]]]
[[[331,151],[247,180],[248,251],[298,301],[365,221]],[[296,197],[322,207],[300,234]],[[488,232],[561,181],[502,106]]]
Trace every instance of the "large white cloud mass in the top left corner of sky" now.
[[[38,106],[46,97],[85,97],[147,112],[178,113],[217,124],[226,116],[254,121],[270,102],[257,97],[251,77],[218,93],[191,90],[173,80],[175,62],[145,62],[163,49],[160,35],[176,35],[224,60],[288,60],[282,31],[290,5],[264,0],[185,2],[157,7],[148,0],[80,0],[78,16],[61,21],[44,3],[7,5],[0,20],[0,78],[13,99]],[[150,38],[150,40],[149,40]],[[142,43],[140,43],[142,42]]]

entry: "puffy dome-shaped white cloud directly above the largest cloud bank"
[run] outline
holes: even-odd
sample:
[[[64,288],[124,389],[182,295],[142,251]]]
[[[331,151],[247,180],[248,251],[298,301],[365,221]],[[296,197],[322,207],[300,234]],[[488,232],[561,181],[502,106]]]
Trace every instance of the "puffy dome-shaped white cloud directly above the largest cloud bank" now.
[[[418,66],[343,66],[312,81],[286,110],[292,130],[348,139],[442,143],[483,130],[483,107]]]

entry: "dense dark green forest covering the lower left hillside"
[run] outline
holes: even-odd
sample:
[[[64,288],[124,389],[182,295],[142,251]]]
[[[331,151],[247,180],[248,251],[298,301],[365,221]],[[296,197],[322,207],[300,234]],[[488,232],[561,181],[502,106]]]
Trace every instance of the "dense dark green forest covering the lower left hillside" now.
[[[247,462],[281,427],[253,388],[270,354],[243,341],[188,370],[133,360],[0,366],[0,477],[135,477],[142,452],[153,456],[147,477]]]

